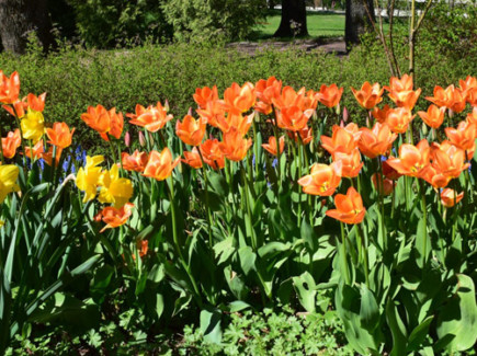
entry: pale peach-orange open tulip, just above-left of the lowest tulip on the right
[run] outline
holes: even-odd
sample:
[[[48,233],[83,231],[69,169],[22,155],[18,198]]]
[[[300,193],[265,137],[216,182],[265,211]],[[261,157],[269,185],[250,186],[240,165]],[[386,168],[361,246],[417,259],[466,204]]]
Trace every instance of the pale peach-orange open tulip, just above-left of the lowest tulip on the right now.
[[[311,195],[331,196],[341,182],[342,162],[332,162],[330,165],[315,163],[311,172],[298,180],[303,192]]]

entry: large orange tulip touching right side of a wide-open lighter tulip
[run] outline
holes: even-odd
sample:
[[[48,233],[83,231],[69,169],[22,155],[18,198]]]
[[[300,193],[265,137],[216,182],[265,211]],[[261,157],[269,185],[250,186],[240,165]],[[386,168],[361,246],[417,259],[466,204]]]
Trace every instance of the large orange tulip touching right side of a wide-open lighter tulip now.
[[[461,172],[470,165],[465,163],[465,151],[450,141],[443,141],[441,145],[434,142],[431,156],[432,165],[450,177],[458,177]]]

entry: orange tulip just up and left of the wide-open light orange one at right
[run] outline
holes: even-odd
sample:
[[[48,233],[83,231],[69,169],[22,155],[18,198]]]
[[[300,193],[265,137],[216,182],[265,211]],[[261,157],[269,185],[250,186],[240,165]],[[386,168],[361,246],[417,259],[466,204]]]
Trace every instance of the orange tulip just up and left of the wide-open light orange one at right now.
[[[385,156],[397,138],[397,134],[393,134],[387,124],[374,124],[373,129],[367,127],[361,128],[361,137],[357,141],[360,151],[368,157],[376,158]]]

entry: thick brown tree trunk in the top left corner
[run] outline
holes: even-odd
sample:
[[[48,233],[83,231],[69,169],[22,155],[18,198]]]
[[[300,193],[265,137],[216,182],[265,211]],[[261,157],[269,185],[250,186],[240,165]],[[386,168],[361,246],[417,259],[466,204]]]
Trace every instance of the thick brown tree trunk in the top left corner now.
[[[47,0],[0,0],[0,37],[3,48],[23,54],[35,32],[45,51],[54,44]]]

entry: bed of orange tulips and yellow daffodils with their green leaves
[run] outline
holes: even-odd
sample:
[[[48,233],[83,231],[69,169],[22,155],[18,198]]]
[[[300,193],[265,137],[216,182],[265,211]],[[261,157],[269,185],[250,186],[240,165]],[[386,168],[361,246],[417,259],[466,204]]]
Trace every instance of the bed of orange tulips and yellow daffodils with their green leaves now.
[[[220,344],[230,313],[315,313],[321,290],[360,354],[475,345],[476,78],[422,94],[406,74],[270,77],[196,88],[174,120],[167,102],[94,104],[75,128],[45,120],[47,95],[22,100],[18,72],[0,83],[0,352],[65,320],[147,343],[197,312]],[[105,154],[78,147],[88,130]]]

